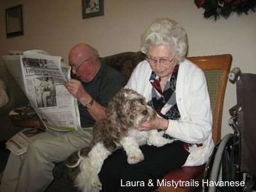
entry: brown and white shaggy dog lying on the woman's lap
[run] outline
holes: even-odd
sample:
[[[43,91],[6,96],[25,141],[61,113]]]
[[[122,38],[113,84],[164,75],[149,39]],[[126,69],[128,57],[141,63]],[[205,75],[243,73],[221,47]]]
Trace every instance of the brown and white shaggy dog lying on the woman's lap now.
[[[83,192],[99,191],[102,188],[98,173],[106,159],[117,148],[123,147],[127,162],[143,161],[140,145],[161,147],[172,140],[163,138],[163,131],[138,131],[142,122],[156,116],[147,105],[145,97],[129,89],[116,93],[106,109],[106,118],[93,127],[93,141],[88,156],[80,157],[80,172],[76,185]]]

